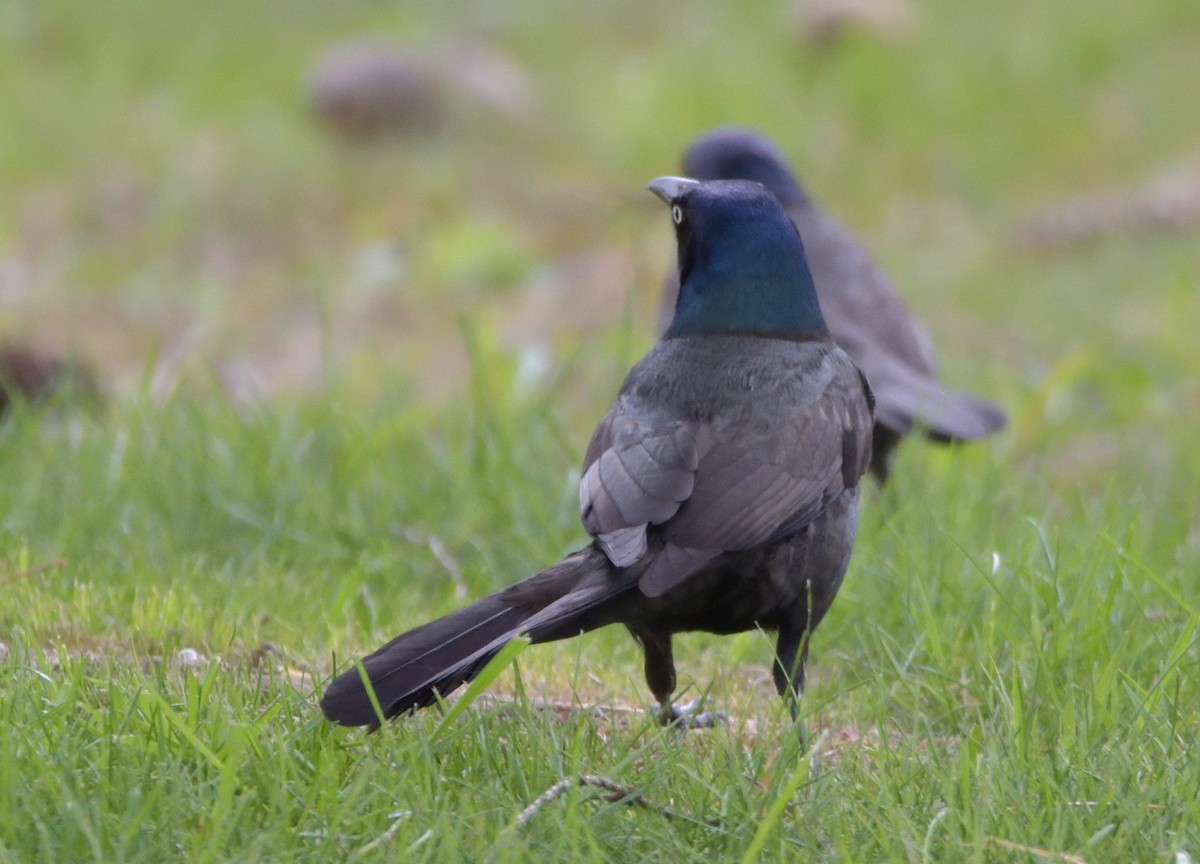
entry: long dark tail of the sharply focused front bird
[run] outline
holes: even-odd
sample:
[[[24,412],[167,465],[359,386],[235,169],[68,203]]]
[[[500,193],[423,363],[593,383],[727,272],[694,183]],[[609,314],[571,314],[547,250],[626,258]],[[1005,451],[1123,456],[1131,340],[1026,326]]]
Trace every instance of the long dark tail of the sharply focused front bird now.
[[[466,684],[518,634],[534,642],[575,636],[608,623],[596,607],[631,586],[594,546],[457,612],[401,634],[362,660],[384,718],[425,708]],[[325,689],[325,716],[342,726],[378,726],[358,666]]]

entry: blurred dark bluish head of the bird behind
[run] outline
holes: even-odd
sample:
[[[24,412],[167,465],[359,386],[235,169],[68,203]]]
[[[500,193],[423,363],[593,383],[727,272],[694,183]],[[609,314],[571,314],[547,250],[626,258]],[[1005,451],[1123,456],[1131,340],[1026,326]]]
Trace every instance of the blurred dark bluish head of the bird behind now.
[[[761,182],[785,208],[809,200],[779,148],[746,128],[725,126],[696,138],[684,151],[683,173],[697,180]]]

